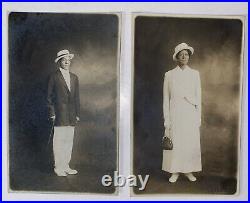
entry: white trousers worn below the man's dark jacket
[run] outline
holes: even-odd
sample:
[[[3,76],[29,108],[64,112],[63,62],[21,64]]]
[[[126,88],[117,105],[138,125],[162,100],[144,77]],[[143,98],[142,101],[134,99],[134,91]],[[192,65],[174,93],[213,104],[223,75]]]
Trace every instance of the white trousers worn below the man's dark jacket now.
[[[69,168],[74,139],[73,126],[55,126],[53,137],[53,153],[55,168],[66,170]]]

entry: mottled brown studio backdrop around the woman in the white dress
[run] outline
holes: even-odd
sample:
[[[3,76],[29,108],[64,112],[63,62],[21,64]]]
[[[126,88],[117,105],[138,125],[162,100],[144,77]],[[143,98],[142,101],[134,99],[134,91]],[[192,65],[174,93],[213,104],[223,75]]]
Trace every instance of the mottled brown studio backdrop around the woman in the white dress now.
[[[177,186],[171,189],[166,187],[169,174],[161,172],[163,81],[165,72],[176,67],[172,56],[175,46],[182,42],[194,48],[189,65],[198,70],[201,77],[203,169],[197,174],[201,176],[198,183],[184,188],[178,186],[180,183],[177,181]],[[136,17],[133,168],[135,174],[160,177],[153,189],[154,179],[151,178],[152,187],[150,189],[148,185],[148,192],[231,194],[236,191],[241,43],[242,22],[237,19]],[[206,178],[217,184],[206,183]],[[160,188],[160,182],[164,182],[163,187],[168,188],[167,191]],[[196,190],[196,185],[200,189]]]

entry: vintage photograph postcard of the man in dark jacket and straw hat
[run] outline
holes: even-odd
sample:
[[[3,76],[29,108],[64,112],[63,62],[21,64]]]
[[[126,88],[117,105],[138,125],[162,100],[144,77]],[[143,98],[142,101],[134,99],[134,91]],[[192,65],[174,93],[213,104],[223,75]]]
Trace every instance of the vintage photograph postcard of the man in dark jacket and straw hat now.
[[[10,192],[115,194],[120,14],[8,15]]]

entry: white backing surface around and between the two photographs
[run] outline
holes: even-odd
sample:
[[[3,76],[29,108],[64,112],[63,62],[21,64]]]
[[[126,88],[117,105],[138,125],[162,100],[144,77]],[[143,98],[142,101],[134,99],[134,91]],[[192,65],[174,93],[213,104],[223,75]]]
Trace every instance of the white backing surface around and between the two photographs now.
[[[248,77],[247,77],[247,3],[2,3],[2,92],[3,92],[3,113],[2,113],[2,200],[247,200],[248,196]],[[119,134],[119,159],[120,174],[130,174],[132,150],[131,138],[131,91],[132,80],[132,12],[156,13],[156,14],[201,14],[201,15],[237,15],[245,16],[245,41],[244,41],[244,129],[242,132],[242,165],[240,194],[237,196],[226,195],[144,195],[131,197],[130,188],[120,188],[119,195],[100,194],[37,194],[37,193],[8,193],[7,192],[7,13],[10,11],[23,12],[121,12],[121,66],[120,66],[120,134]],[[130,51],[129,51],[130,50]],[[124,164],[125,163],[125,164]]]

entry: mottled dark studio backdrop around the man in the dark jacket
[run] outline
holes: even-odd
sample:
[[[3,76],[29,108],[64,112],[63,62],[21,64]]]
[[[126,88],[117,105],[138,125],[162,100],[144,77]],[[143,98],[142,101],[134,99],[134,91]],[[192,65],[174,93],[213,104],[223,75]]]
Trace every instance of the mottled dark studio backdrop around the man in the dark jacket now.
[[[11,13],[9,15],[9,152],[13,190],[114,192],[101,185],[117,169],[117,62],[119,18],[107,14]],[[47,145],[47,82],[56,54],[75,55],[81,121],[71,166],[77,176],[53,174]]]

